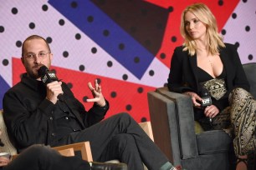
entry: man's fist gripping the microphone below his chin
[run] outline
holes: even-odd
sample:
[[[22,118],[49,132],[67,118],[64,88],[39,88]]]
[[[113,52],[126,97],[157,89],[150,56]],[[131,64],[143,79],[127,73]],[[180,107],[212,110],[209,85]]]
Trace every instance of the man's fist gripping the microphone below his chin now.
[[[58,101],[58,95],[63,94],[61,84],[62,82],[54,81],[46,86],[46,98],[54,104]]]

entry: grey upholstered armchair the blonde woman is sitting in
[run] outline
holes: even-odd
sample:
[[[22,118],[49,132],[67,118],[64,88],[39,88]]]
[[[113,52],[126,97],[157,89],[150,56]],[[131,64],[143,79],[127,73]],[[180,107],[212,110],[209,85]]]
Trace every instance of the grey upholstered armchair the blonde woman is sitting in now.
[[[243,64],[253,97],[256,97],[256,63]],[[227,133],[212,130],[195,133],[192,100],[187,95],[159,87],[148,92],[151,126],[156,145],[174,165],[190,170],[228,170],[233,143]]]

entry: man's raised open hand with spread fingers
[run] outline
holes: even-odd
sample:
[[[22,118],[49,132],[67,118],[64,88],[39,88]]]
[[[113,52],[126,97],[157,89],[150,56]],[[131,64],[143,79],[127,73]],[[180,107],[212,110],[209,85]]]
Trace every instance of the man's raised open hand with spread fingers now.
[[[96,102],[100,107],[105,106],[105,98],[103,97],[103,94],[101,93],[101,87],[98,84],[97,79],[95,79],[95,87],[92,86],[91,82],[88,82],[88,87],[90,88],[90,91],[94,98],[87,99],[87,102]]]

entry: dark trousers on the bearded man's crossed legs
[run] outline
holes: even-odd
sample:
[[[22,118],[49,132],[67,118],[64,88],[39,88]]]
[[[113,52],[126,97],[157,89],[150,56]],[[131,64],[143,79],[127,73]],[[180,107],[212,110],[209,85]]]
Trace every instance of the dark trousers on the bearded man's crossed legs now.
[[[90,141],[94,161],[118,159],[128,169],[159,170],[168,161],[140,125],[128,114],[119,113],[78,133],[71,133],[59,145]]]

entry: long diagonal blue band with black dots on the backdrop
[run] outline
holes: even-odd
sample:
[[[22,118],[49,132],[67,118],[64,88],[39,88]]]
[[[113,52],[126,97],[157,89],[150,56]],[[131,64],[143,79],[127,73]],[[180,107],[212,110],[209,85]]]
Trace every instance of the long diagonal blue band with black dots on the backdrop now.
[[[77,6],[71,7],[72,2],[76,2]],[[93,2],[88,0],[49,0],[49,3],[84,34],[110,53],[115,60],[141,79],[154,56],[96,7]],[[89,17],[93,18],[92,22],[88,21]],[[104,30],[108,30],[110,35],[104,36]],[[125,46],[123,50],[119,48],[120,43]],[[140,62],[134,62],[135,57],[139,57]]]

